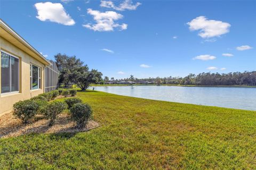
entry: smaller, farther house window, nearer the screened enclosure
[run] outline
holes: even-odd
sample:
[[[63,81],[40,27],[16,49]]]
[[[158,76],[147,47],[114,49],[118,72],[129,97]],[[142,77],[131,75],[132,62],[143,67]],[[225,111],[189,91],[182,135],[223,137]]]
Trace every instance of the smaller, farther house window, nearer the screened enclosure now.
[[[41,89],[41,68],[30,64],[30,90]]]

